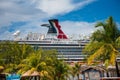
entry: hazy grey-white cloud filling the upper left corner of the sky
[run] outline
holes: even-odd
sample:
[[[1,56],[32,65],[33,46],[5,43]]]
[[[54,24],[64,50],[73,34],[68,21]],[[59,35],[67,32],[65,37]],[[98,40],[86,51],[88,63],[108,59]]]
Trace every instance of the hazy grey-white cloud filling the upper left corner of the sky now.
[[[38,20],[46,17],[45,13],[26,0],[1,0],[0,2],[1,27],[8,26],[11,22]]]

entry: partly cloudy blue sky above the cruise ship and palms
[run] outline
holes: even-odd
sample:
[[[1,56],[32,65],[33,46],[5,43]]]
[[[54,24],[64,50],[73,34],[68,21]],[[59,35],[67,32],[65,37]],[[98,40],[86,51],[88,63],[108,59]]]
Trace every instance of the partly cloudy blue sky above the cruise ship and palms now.
[[[112,16],[120,28],[120,0],[0,0],[0,40],[47,33],[41,24],[58,19],[67,35],[90,35],[95,24]]]

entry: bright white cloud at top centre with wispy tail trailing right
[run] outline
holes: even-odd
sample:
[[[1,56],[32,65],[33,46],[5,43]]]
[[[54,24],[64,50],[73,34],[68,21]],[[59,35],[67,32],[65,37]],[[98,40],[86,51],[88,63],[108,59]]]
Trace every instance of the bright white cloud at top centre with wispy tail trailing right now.
[[[73,3],[74,0],[39,0],[37,8],[48,15],[64,14],[93,2],[94,0],[84,0]]]

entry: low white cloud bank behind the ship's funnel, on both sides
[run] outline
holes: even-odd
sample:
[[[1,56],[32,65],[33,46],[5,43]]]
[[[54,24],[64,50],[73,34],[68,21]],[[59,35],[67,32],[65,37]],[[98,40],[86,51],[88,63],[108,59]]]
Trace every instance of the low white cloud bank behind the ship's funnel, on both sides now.
[[[43,23],[48,23],[48,22],[31,22],[30,24],[17,27],[15,31],[17,30],[21,31],[20,37],[25,37],[29,32],[46,34],[48,28],[40,26]],[[59,21],[59,24],[61,25],[61,29],[65,34],[69,36],[75,35],[75,38],[79,38],[79,35],[89,36],[90,33],[95,30],[94,28],[95,22],[88,23],[88,22],[74,22],[74,21],[64,21],[64,22]],[[9,33],[9,39],[13,38],[13,35],[11,34],[13,34],[14,32],[7,32]],[[5,33],[4,35],[6,35],[7,33]],[[1,37],[5,37],[4,39],[8,39],[8,37],[6,36],[0,36],[0,39]]]

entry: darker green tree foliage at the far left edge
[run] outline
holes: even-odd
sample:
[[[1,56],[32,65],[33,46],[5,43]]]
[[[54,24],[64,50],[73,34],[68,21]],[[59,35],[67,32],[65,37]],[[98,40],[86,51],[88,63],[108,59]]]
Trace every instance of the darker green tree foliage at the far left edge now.
[[[17,65],[22,59],[26,58],[31,52],[29,45],[19,45],[17,42],[0,43],[0,64],[5,67],[5,72],[16,72]]]

